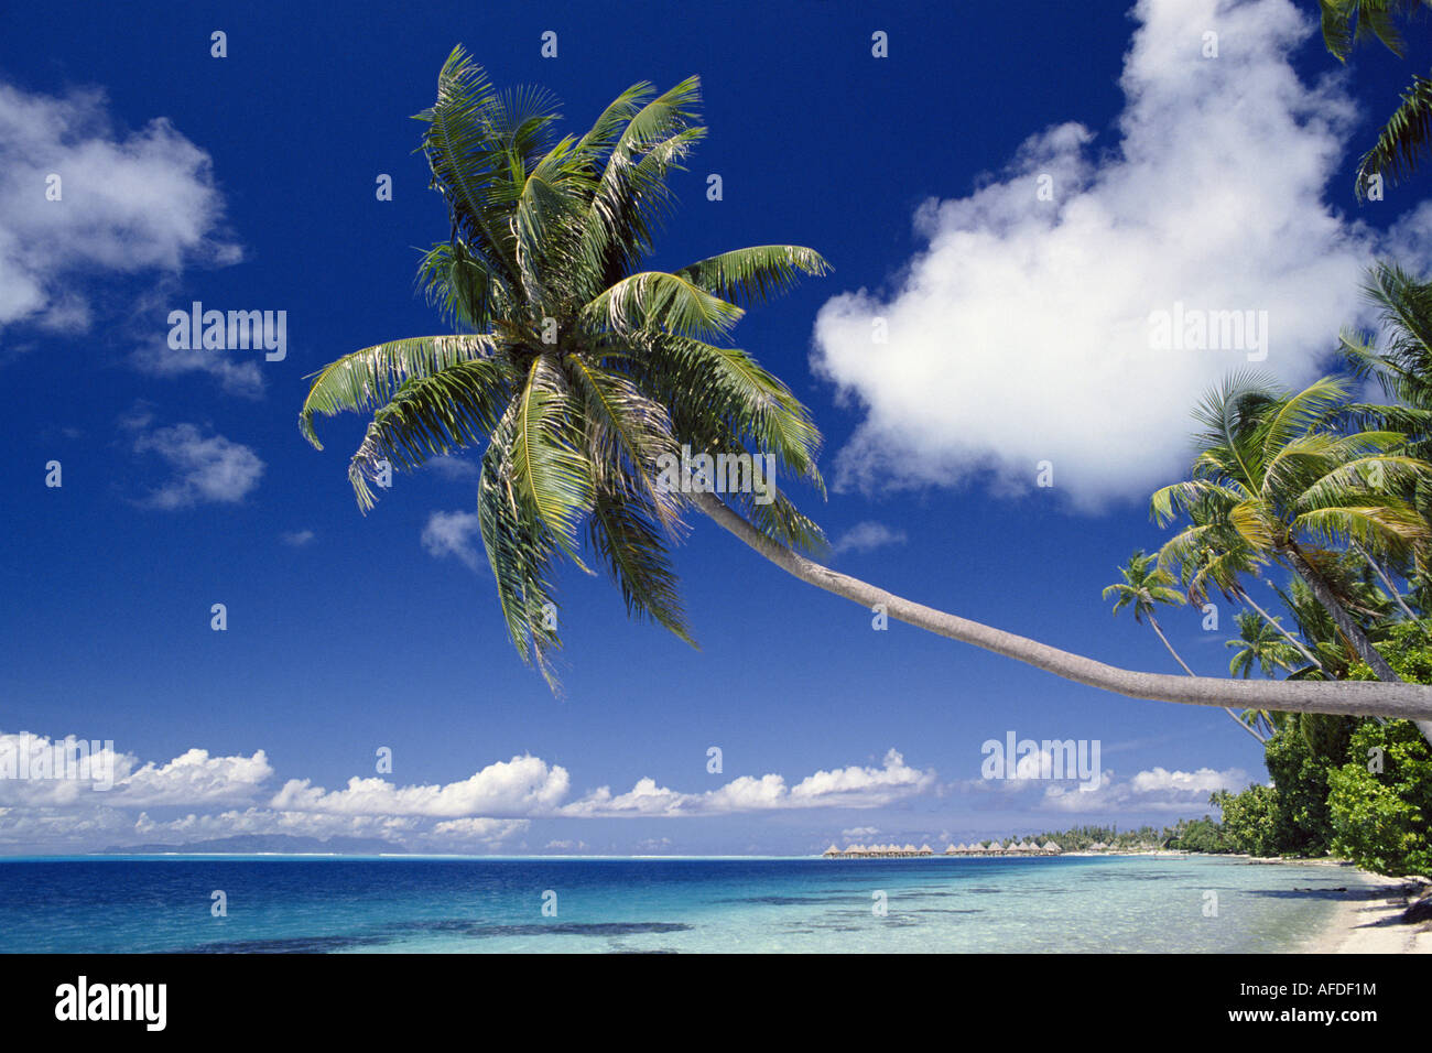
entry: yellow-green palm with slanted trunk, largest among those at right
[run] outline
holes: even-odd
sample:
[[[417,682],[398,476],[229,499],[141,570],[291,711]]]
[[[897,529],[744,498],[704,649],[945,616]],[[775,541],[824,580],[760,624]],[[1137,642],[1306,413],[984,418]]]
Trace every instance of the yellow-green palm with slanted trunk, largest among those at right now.
[[[1393,490],[1425,481],[1432,464],[1390,453],[1403,440],[1398,433],[1327,430],[1346,394],[1346,381],[1332,377],[1295,394],[1256,374],[1230,377],[1194,414],[1204,430],[1196,436],[1193,477],[1158,490],[1150,510],[1161,524],[1196,511],[1259,559],[1287,566],[1378,679],[1398,682],[1340,602],[1336,557],[1326,546],[1352,540],[1380,552],[1421,549],[1428,524]],[[1189,527],[1200,532],[1200,543],[1207,537],[1201,526]],[[1425,723],[1432,742],[1432,721]]]

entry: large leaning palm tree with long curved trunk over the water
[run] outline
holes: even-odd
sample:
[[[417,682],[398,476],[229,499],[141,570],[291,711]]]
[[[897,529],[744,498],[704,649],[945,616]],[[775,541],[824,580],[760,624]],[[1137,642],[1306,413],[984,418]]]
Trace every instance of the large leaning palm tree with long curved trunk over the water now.
[[[371,413],[348,476],[367,510],[387,467],[485,443],[478,521],[498,602],[524,660],[548,675],[560,643],[553,576],[581,559],[581,527],[633,616],[683,639],[669,544],[697,510],[768,560],[889,617],[1045,669],[1147,698],[1339,713],[1432,716],[1432,689],[1385,683],[1214,682],[1141,673],[971,622],[825,567],[805,553],[821,532],[775,493],[715,493],[703,473],[666,477],[682,447],[702,456],[775,456],[821,489],[821,436],[806,408],[726,337],[742,315],[799,275],[828,266],[813,251],[766,245],[677,271],[640,271],[672,203],[669,173],[703,135],[696,79],[656,95],[623,92],[581,136],[556,139],[547,96],[503,95],[463,49],[420,115],[432,186],[450,236],[420,281],[457,332],[364,348],[312,381],[315,414]],[[662,467],[659,473],[657,468]]]

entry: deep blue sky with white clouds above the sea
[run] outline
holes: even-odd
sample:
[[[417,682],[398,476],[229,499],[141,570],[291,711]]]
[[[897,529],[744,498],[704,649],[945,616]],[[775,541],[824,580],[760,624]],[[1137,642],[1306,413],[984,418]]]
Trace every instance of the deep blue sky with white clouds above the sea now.
[[[398,476],[364,517],[345,479],[364,421],[322,421],[318,453],[295,417],[305,374],[438,331],[414,246],[445,216],[408,117],[454,44],[498,85],[553,90],[574,129],[633,82],[699,73],[710,133],[653,262],[792,242],[833,265],[750,311],[736,340],[826,436],[831,497],[800,496],[835,566],[1174,672],[1100,590],[1166,536],[1147,494],[1177,479],[1187,410],[1244,354],[1151,352],[1148,312],[1267,311],[1263,365],[1306,381],[1358,318],[1360,269],[1389,252],[1423,262],[1419,185],[1359,208],[1349,181],[1426,56],[1369,46],[1339,69],[1310,10],[10,13],[0,735],[112,741],[120,776],[103,795],[0,782],[0,851],[235,832],[478,852],[938,845],[1171,822],[1204,814],[1211,787],[1266,778],[1217,709],[1106,695],[899,623],[875,632],[869,612],[705,521],[677,556],[702,650],[627,622],[604,579],[566,573],[554,698],[507,642],[465,529],[471,467]],[[211,56],[215,30],[226,57]],[[706,199],[710,173],[722,201]],[[166,318],[192,301],[285,311],[286,357],[169,350]],[[888,344],[871,341],[875,318]],[[1041,460],[1054,487],[1034,486]],[[62,487],[46,487],[49,461]],[[1226,675],[1232,615],[1220,632],[1189,610],[1163,622],[1200,673]],[[1100,742],[1106,785],[981,779],[981,744],[1010,731]],[[391,774],[375,771],[382,746]]]

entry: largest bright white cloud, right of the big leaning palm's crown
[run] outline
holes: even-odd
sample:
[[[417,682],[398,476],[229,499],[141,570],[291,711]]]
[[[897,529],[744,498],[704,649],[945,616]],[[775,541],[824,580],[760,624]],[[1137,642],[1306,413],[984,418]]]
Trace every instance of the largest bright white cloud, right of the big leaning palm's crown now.
[[[891,289],[821,309],[812,365],[862,414],[838,486],[1014,491],[1047,460],[1078,506],[1143,499],[1187,467],[1197,395],[1257,355],[1252,340],[1157,350],[1156,312],[1266,311],[1260,365],[1290,384],[1356,318],[1379,236],[1327,203],[1350,201],[1329,179],[1353,107],[1340,74],[1305,83],[1290,64],[1313,21],[1289,0],[1136,16],[1108,139],[1032,135],[987,185],[918,209],[925,248]]]

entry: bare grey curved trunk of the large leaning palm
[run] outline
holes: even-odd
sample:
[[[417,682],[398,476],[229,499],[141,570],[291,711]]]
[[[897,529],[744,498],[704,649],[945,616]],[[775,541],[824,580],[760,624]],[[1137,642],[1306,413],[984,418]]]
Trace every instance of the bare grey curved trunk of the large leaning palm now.
[[[884,605],[885,612],[899,622],[952,640],[972,643],[1067,681],[1154,702],[1224,706],[1232,701],[1243,709],[1423,719],[1432,728],[1432,688],[1416,683],[1372,683],[1368,681],[1217,681],[1207,676],[1173,676],[1120,669],[1025,636],[971,622],[958,615],[912,603],[868,582],[823,567],[786,546],[772,542],[716,494],[692,494],[692,500],[720,527],[808,585],[825,589],[863,607]]]

